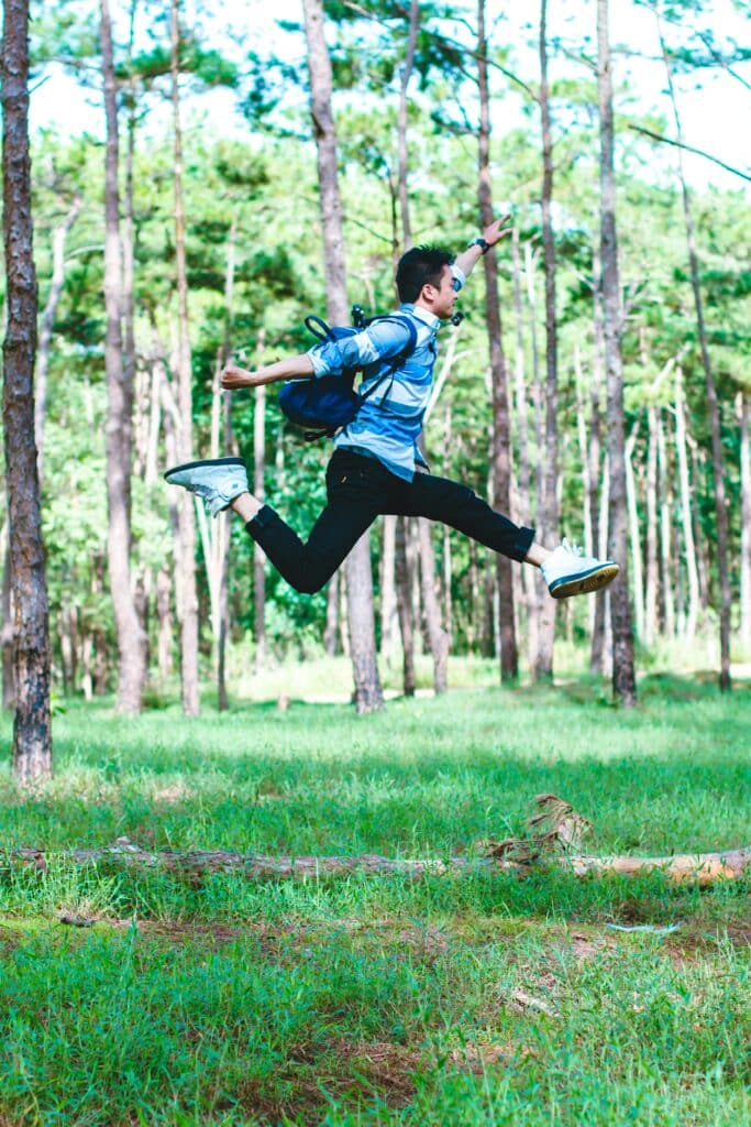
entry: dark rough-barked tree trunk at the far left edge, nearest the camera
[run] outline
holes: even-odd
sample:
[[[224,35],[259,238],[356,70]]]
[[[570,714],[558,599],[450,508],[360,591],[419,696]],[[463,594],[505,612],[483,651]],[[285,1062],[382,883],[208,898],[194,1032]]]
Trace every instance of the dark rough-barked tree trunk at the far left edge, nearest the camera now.
[[[5,0],[2,35],[2,230],[7,325],[2,420],[14,601],[12,771],[21,782],[52,774],[50,611],[34,441],[34,270],[28,150],[28,2]]]

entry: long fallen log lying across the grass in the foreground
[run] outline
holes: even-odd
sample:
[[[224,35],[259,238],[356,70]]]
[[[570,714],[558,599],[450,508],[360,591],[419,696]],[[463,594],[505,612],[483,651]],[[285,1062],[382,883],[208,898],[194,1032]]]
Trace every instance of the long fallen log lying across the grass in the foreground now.
[[[716,880],[737,880],[751,875],[751,846],[722,853],[685,853],[676,857],[588,857],[584,854],[540,853],[531,859],[503,857],[453,857],[447,860],[387,858],[373,853],[358,857],[271,857],[262,853],[231,853],[222,850],[149,851],[127,837],[98,849],[45,851],[38,849],[0,849],[0,870],[26,866],[45,872],[54,863],[95,864],[106,868],[161,869],[169,872],[212,873],[239,872],[249,880],[297,879],[321,877],[394,875],[421,877],[454,872],[516,873],[527,876],[540,863],[567,870],[576,877],[602,877],[620,873],[635,877],[661,871],[669,881],[709,885]]]

